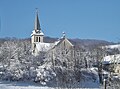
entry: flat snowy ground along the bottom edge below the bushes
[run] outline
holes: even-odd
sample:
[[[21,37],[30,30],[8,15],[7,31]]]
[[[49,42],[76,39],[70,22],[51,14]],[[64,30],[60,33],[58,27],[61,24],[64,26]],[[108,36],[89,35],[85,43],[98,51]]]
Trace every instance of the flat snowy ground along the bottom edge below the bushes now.
[[[81,85],[82,88],[78,88],[78,89],[99,89],[98,83],[85,82],[85,83],[81,83]],[[84,88],[86,86],[87,88]],[[31,83],[31,82],[26,83],[26,82],[0,81],[0,89],[57,89],[57,88],[40,86],[39,84]]]

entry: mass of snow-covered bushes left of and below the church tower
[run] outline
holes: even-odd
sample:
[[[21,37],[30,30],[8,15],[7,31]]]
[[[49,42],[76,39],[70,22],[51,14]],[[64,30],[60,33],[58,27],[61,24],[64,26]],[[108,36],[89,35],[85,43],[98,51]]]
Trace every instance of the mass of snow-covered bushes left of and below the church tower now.
[[[35,81],[46,84],[55,73],[45,53],[34,57],[30,41],[5,41],[0,47],[0,78],[10,81]]]

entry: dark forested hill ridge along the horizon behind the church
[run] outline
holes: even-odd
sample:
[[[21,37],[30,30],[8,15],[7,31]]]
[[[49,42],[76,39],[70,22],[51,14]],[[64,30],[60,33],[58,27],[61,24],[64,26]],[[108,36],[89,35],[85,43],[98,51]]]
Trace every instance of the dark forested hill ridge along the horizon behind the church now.
[[[17,40],[17,38],[0,38],[0,43],[3,43],[4,41],[9,41],[9,40]],[[24,39],[19,39],[19,40],[24,40],[24,41],[30,41],[30,38],[24,38]],[[47,43],[53,43],[57,41],[58,38],[52,38],[52,37],[44,37],[44,42]],[[108,42],[105,40],[97,40],[97,39],[69,39],[70,42],[72,42],[74,45],[84,45],[84,46],[92,46],[92,45],[113,45],[115,44],[114,42]]]

